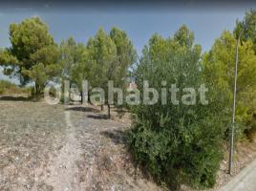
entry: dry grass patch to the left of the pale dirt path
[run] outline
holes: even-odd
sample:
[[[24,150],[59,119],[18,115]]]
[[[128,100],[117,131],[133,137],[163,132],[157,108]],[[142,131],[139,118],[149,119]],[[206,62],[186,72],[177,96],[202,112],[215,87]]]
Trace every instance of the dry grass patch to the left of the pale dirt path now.
[[[0,190],[31,190],[63,135],[61,106],[0,101]],[[64,129],[65,131],[65,129]]]

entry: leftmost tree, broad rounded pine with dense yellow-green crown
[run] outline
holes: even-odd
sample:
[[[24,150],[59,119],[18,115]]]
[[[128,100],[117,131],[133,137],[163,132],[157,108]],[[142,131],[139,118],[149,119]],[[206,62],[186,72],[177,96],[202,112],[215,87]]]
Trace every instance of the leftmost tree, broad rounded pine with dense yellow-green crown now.
[[[48,27],[39,17],[10,26],[11,48],[2,53],[5,74],[18,77],[22,85],[35,84],[40,94],[46,82],[60,70],[58,50]]]

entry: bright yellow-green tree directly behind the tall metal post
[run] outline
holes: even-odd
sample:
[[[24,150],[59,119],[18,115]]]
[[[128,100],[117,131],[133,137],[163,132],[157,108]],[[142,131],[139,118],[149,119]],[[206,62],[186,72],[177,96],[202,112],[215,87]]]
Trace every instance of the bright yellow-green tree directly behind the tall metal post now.
[[[210,52],[203,56],[204,77],[217,92],[223,93],[224,108],[232,108],[235,51],[236,38],[230,32],[223,32]],[[255,63],[252,41],[239,43],[236,122],[240,125],[240,136],[250,128],[247,123],[256,112],[253,104],[256,97]]]

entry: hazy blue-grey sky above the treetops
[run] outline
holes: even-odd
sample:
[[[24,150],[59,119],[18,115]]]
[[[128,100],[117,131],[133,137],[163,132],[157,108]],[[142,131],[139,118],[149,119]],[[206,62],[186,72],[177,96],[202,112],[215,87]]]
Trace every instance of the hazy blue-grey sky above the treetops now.
[[[0,48],[10,47],[9,25],[19,23],[25,18],[39,16],[47,25],[54,40],[59,43],[69,36],[73,36],[77,42],[85,43],[88,38],[94,36],[101,27],[109,32],[112,27],[127,32],[133,41],[138,53],[147,44],[153,33],[159,33],[163,37],[173,35],[182,24],[194,32],[195,42],[202,45],[203,52],[209,51],[214,40],[224,30],[233,31],[236,19],[243,19],[245,11],[252,6],[236,7],[236,9],[118,9],[90,10],[79,9],[45,9],[13,8],[11,11],[0,8]],[[4,78],[0,73],[0,78]]]

